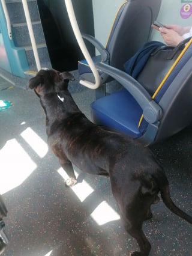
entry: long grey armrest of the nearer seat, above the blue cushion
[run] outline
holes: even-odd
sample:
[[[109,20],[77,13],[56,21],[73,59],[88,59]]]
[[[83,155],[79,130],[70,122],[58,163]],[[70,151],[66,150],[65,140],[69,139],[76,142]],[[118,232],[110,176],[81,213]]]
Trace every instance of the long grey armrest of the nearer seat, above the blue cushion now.
[[[161,119],[163,115],[161,107],[151,98],[148,91],[139,82],[127,73],[103,62],[98,62],[95,66],[97,70],[112,76],[112,78],[118,81],[134,97],[143,109],[143,117],[148,123],[155,123]]]

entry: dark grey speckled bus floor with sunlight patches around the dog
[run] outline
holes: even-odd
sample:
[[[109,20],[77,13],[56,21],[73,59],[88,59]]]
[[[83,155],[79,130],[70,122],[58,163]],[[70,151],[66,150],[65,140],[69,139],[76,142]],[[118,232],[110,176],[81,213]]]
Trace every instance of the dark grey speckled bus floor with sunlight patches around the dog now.
[[[37,96],[0,79],[0,100],[13,106],[0,112],[0,193],[10,242],[3,256],[124,256],[137,249],[122,227],[107,178],[79,174],[68,189],[58,159],[47,147],[45,115]],[[89,117],[94,91],[73,94]],[[192,215],[192,127],[151,147],[170,182],[173,201]],[[162,203],[143,230],[150,255],[192,255],[192,226]]]

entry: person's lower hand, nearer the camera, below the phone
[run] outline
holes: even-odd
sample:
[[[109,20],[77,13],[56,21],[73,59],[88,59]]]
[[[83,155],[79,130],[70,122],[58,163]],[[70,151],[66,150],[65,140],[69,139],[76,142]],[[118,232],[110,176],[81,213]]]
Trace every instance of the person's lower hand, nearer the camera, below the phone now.
[[[178,34],[178,32],[168,29],[168,28],[160,28],[160,33],[163,37],[164,42],[170,46],[177,46],[184,38]]]

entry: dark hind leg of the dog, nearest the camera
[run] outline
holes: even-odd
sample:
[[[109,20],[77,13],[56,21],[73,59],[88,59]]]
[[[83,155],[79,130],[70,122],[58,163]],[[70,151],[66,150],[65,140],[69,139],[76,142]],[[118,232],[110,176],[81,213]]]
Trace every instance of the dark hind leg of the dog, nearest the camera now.
[[[130,183],[120,189],[113,183],[113,195],[118,203],[121,221],[125,230],[139,244],[140,251],[131,252],[131,256],[148,256],[151,244],[142,230],[143,221],[152,217],[150,198],[143,197],[140,183]],[[154,201],[154,200],[151,200]]]

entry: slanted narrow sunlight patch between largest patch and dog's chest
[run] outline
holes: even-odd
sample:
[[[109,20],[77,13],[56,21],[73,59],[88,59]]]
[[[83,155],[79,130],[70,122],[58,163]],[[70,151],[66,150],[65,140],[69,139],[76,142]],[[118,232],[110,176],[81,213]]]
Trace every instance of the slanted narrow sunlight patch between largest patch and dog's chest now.
[[[48,152],[48,146],[37,133],[34,132],[30,127],[20,133],[23,139],[31,146],[31,148],[38,154],[39,157],[43,158]]]

